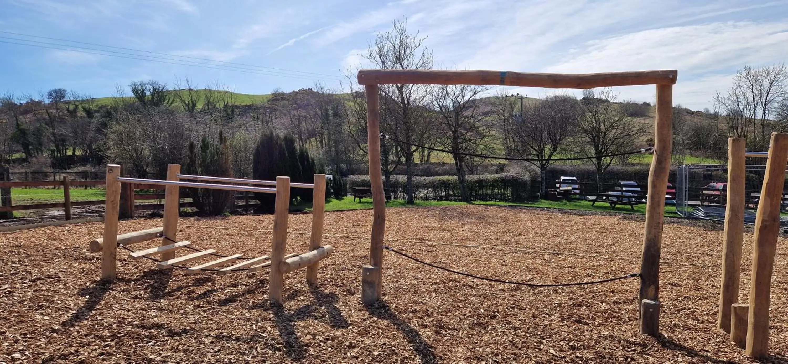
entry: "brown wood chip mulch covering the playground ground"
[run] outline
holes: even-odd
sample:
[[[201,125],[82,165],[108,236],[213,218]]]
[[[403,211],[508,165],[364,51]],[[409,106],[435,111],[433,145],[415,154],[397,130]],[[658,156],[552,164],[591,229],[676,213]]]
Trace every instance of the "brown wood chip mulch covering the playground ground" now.
[[[390,209],[387,217],[387,244],[485,277],[563,283],[639,270],[642,217],[496,206]],[[291,215],[288,253],[307,250],[310,218]],[[359,299],[371,221],[369,210],[326,214],[324,244],[334,254],[321,262],[319,287],[304,284],[303,270],[291,273],[283,306],[268,303],[265,271],[170,273],[121,250],[119,280],[102,284],[100,254],[87,249],[102,223],[0,234],[0,362],[751,361],[716,329],[719,228],[665,225],[663,336],[654,339],[637,333],[637,278],[526,288],[388,251],[384,301],[366,308]],[[178,238],[257,256],[269,253],[272,224],[272,216],[182,218]],[[160,225],[121,221],[121,232]],[[747,232],[741,302],[752,240]],[[786,243],[780,238],[772,278],[770,362],[788,362]]]

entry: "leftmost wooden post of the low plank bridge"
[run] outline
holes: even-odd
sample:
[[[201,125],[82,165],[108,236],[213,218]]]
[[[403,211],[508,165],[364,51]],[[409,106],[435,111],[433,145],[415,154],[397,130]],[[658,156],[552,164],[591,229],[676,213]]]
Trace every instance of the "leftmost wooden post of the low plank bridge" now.
[[[102,243],[101,277],[114,280],[117,265],[117,214],[121,206],[120,165],[106,166],[106,202],[104,207],[104,240]]]

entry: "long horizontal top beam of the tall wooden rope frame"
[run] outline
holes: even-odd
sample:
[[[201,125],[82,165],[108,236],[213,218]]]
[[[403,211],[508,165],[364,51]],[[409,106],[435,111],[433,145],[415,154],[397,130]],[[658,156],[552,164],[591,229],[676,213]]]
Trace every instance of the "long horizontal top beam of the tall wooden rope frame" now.
[[[611,73],[523,73],[502,71],[440,71],[435,69],[362,69],[359,84],[478,84],[548,88],[594,88],[643,84],[675,84],[678,71]]]

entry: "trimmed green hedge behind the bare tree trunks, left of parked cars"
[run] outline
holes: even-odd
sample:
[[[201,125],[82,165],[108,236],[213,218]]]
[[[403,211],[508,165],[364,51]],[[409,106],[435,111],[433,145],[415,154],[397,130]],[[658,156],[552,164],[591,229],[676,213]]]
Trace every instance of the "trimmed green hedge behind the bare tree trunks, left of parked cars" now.
[[[470,199],[474,201],[523,202],[530,199],[531,176],[511,173],[467,176]],[[392,199],[405,199],[406,178],[391,176],[386,188]],[[348,190],[370,187],[370,176],[348,176]],[[427,201],[459,201],[459,182],[456,176],[413,177],[415,199]]]

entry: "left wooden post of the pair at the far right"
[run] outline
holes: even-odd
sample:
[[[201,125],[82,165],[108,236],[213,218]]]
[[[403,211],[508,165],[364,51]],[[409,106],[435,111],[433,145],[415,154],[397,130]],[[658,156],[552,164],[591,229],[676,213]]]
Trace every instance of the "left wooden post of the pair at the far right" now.
[[[742,268],[746,153],[744,138],[728,138],[728,197],[723,234],[723,277],[717,316],[717,327],[727,333],[730,333],[730,305],[738,301],[739,269]]]

